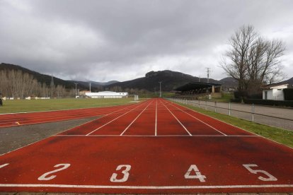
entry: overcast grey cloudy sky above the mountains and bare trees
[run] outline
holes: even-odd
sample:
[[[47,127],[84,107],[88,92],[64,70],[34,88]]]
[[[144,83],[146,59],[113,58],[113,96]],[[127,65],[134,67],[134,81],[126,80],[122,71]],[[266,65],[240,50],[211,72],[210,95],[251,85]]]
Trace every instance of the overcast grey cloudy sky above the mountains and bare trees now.
[[[293,76],[293,1],[0,0],[0,62],[63,79],[127,81],[148,71],[221,79],[241,25],[282,39]]]

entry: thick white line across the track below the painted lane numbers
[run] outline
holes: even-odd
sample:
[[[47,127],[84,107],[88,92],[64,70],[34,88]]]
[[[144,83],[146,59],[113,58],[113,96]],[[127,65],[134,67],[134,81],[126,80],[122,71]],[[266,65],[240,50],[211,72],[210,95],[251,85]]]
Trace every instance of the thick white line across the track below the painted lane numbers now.
[[[292,188],[293,184],[226,185],[226,186],[102,186],[70,184],[0,184],[0,187],[54,187],[86,189],[242,189],[242,188]]]

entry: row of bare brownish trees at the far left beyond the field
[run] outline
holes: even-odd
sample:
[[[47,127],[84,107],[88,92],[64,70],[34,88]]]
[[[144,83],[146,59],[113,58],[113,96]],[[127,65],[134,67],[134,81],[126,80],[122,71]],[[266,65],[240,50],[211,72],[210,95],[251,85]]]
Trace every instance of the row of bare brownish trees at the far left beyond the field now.
[[[20,70],[0,71],[0,92],[3,96],[21,99],[29,96],[61,98],[70,93],[62,85],[47,86]]]

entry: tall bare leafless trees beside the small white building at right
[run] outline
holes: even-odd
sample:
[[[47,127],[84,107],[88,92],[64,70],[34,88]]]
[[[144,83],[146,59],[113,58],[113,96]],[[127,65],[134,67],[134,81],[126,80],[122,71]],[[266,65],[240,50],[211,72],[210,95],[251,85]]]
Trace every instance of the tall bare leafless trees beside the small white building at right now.
[[[239,82],[240,93],[255,95],[263,83],[283,78],[280,57],[285,45],[281,40],[267,40],[252,25],[243,25],[231,36],[229,45],[221,66]]]

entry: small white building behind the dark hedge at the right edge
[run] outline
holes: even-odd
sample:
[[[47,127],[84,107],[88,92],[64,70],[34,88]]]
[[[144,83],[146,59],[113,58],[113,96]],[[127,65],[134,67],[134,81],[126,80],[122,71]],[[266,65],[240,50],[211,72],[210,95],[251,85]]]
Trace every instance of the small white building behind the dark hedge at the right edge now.
[[[292,88],[292,85],[268,85],[263,89],[263,100],[285,100],[283,90],[286,88]]]

